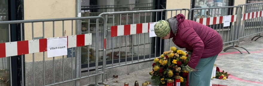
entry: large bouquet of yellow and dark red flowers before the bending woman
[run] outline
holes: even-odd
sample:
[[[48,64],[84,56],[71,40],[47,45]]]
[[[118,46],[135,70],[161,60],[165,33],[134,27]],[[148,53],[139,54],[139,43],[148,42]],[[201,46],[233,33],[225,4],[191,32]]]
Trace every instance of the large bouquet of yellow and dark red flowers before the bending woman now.
[[[154,59],[152,64],[151,79],[154,79],[156,85],[166,85],[168,79],[174,80],[176,76],[181,76],[181,85],[186,84],[188,71],[183,70],[189,61],[189,56],[176,47],[170,47],[169,51],[163,52],[159,58]]]

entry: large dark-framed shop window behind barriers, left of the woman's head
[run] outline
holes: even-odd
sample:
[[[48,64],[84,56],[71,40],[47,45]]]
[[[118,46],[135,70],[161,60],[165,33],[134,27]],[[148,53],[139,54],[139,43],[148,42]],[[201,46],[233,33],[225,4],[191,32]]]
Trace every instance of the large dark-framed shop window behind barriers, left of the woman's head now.
[[[135,11],[135,10],[152,10],[155,9],[155,0],[82,0],[81,6],[81,16],[98,16],[103,12],[120,12],[120,11]],[[143,40],[146,40],[146,45],[149,46],[149,37],[146,36],[147,39],[144,39],[144,35],[134,36],[133,40],[131,40],[131,36],[121,36],[120,38],[110,37],[110,28],[114,25],[124,25],[124,24],[132,24],[132,23],[145,23],[151,22],[150,19],[154,20],[154,13],[151,16],[151,13],[135,13],[135,17],[132,19],[133,14],[117,14],[117,15],[107,15],[103,16],[107,20],[107,48],[111,50],[107,50],[106,52],[106,60],[117,60],[117,59],[125,59],[126,54],[127,58],[132,57],[132,43],[134,44],[133,56],[141,56],[143,55],[143,49],[138,49],[137,47],[143,47]],[[140,21],[139,21],[140,20]],[[103,22],[100,20],[99,23],[99,61],[103,60],[103,42],[102,42],[102,32],[101,28],[103,26]],[[93,63],[95,61],[95,40],[96,40],[96,20],[82,20],[82,34],[92,33],[92,45],[82,47],[82,64]],[[137,40],[140,39],[140,40]],[[113,42],[111,44],[111,42]],[[119,43],[120,42],[120,43]],[[127,44],[127,48],[126,45]],[[148,44],[148,45],[147,45]],[[140,45],[140,46],[137,46]],[[120,50],[119,50],[120,48]],[[136,48],[136,49],[135,49]],[[139,51],[139,53],[137,53]],[[149,54],[145,52],[145,54]],[[112,55],[113,54],[113,55]],[[115,61],[114,61],[115,63]]]

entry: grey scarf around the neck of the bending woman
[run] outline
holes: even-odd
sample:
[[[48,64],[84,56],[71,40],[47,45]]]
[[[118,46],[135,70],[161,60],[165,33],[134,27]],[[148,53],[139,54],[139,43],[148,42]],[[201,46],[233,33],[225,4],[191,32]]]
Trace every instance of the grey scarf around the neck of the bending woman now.
[[[168,21],[169,26],[171,27],[173,34],[175,34],[175,36],[176,36],[176,32],[177,32],[177,19],[176,19],[176,17],[171,17],[171,18],[167,19],[166,21]]]

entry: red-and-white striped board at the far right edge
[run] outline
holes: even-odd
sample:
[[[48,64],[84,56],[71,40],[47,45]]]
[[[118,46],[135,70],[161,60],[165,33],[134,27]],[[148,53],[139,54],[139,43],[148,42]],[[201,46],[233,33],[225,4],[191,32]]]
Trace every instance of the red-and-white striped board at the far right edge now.
[[[263,11],[257,11],[257,12],[250,12],[250,13],[244,13],[242,15],[241,20],[247,20],[247,19],[252,19],[256,17],[262,17],[263,16]]]

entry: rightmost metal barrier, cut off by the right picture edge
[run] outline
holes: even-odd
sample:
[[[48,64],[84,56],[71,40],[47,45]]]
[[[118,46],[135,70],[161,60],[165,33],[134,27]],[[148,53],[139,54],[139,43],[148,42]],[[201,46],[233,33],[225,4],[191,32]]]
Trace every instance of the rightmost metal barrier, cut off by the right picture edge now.
[[[244,38],[247,36],[259,34],[255,37],[260,37],[260,33],[263,32],[262,27],[262,10],[263,10],[263,3],[250,3],[250,4],[240,4],[238,6],[242,6],[242,18],[241,18],[241,31],[239,32],[239,38]],[[251,39],[251,40],[253,40]],[[255,39],[255,41],[257,40]]]

